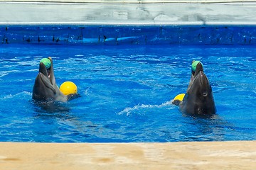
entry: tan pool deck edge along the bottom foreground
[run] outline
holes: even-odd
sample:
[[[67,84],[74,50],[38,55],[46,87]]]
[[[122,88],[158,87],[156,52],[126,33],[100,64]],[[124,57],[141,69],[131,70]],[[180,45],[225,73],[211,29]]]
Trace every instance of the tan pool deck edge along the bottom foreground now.
[[[255,169],[256,142],[0,143],[0,169]]]

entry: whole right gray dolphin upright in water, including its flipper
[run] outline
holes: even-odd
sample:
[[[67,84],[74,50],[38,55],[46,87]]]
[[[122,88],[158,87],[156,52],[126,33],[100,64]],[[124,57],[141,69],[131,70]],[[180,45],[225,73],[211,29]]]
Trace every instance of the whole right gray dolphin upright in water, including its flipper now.
[[[216,112],[212,88],[201,62],[196,65],[196,71],[191,75],[183,101],[173,103],[179,106],[182,113],[213,115]]]

